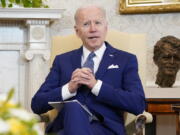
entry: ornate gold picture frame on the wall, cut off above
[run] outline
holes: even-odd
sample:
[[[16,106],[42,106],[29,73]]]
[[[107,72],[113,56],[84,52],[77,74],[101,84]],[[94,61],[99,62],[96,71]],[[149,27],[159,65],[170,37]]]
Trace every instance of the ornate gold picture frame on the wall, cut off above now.
[[[180,0],[120,0],[121,14],[179,12]]]

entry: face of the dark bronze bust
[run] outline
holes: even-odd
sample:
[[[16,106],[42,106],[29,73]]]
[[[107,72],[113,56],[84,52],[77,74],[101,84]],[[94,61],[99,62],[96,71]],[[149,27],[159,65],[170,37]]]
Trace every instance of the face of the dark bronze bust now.
[[[163,53],[157,61],[159,70],[166,75],[176,75],[180,69],[180,54],[178,50],[166,43],[163,46]]]

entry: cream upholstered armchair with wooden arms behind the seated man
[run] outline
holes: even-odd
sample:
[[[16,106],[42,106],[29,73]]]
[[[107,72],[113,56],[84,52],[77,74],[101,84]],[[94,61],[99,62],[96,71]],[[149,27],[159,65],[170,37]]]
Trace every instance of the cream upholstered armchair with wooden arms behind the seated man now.
[[[139,75],[145,88],[146,79],[146,36],[145,34],[129,34],[122,33],[115,30],[109,30],[107,33],[106,41],[112,44],[115,48],[121,49],[133,53],[137,56]],[[51,64],[56,55],[79,48],[82,45],[81,40],[75,35],[67,36],[55,36],[52,39],[52,51],[51,51]],[[41,115],[43,121],[53,121],[57,111],[49,111],[48,113]],[[125,113],[125,127],[127,135],[143,135],[143,129],[145,123],[152,122],[152,115],[148,112],[144,112],[138,116],[130,113]]]

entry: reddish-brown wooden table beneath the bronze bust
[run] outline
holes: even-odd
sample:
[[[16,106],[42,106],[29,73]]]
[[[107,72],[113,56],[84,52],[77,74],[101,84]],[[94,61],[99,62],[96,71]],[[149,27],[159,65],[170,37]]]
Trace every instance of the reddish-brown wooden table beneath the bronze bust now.
[[[147,99],[147,111],[156,115],[176,115],[176,135],[180,135],[180,99]]]

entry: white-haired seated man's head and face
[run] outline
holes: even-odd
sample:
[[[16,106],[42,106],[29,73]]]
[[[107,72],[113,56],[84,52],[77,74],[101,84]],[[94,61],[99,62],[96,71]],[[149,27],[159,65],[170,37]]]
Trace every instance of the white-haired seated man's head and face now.
[[[78,13],[75,26],[76,34],[90,51],[101,47],[107,33],[107,22],[98,8],[86,8]]]

